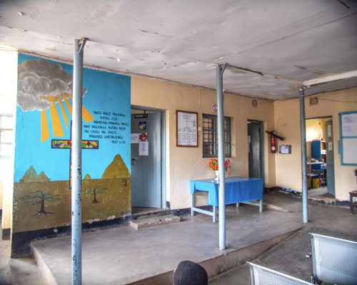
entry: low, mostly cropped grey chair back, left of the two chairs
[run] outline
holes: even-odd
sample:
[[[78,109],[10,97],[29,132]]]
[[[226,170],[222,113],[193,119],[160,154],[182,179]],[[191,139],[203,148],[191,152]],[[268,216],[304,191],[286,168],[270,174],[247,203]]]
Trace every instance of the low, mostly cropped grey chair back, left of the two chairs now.
[[[309,282],[288,276],[273,269],[247,262],[251,270],[251,285],[303,285]]]

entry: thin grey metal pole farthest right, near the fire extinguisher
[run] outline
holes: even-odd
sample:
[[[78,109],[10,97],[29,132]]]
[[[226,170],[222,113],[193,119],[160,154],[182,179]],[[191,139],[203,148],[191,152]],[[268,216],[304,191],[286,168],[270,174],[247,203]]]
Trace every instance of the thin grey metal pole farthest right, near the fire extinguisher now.
[[[305,98],[303,89],[298,90],[300,102],[300,133],[301,133],[301,170],[303,176],[303,222],[308,222],[308,185],[306,177],[306,124]]]

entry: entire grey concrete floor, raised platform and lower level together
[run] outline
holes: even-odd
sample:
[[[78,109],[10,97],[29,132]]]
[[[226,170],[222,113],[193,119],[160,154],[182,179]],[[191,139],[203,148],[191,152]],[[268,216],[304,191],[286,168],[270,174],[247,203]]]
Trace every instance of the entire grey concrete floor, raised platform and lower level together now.
[[[179,261],[189,259],[202,262],[209,272],[220,271],[228,266],[225,259],[237,257],[230,262],[241,262],[238,257],[246,253],[241,253],[240,249],[251,249],[249,260],[256,259],[256,263],[308,281],[312,272],[312,261],[305,258],[305,254],[311,251],[308,232],[357,241],[357,215],[350,215],[347,208],[309,204],[309,223],[303,224],[300,199],[274,192],[264,195],[264,203],[262,213],[258,212],[257,207],[251,206],[227,208],[227,249],[223,252],[218,250],[218,223],[213,224],[211,217],[203,214],[182,217],[180,223],[139,231],[119,227],[85,233],[82,249],[83,284],[129,284],[136,281],[139,281],[136,284],[157,284],[154,279],[146,278],[158,274],[166,275],[166,283],[164,281],[161,284],[170,284],[168,278]],[[264,241],[293,231],[297,232],[267,252],[261,252],[264,250]],[[4,262],[6,242],[9,241],[0,242],[0,284],[11,284],[9,281],[5,283],[9,275],[6,272],[7,262]],[[34,244],[56,283],[71,284],[70,237],[47,239]],[[261,247],[251,247],[252,244],[260,244]],[[33,261],[10,261],[11,270],[16,275],[13,274],[13,280],[17,280],[13,284],[46,284]],[[140,281],[143,279],[146,281]],[[248,267],[238,266],[211,279],[210,284],[250,282]]]

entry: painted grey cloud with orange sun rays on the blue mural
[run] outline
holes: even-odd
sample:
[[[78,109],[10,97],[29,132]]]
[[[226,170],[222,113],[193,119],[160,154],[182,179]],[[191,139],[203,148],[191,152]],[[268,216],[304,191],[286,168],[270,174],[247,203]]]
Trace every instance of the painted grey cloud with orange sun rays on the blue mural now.
[[[59,63],[44,59],[26,59],[19,64],[17,105],[23,112],[39,111],[41,143],[63,138],[72,115],[73,75]],[[87,90],[82,88],[84,98]],[[82,118],[94,120],[82,106]],[[67,132],[68,133],[68,132]]]

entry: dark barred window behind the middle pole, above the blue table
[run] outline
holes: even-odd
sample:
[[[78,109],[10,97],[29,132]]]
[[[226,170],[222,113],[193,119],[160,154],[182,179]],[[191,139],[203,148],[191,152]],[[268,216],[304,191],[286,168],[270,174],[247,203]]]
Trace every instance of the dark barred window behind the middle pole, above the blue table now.
[[[231,118],[224,117],[224,156],[231,157]],[[217,116],[202,114],[203,157],[217,157]]]

